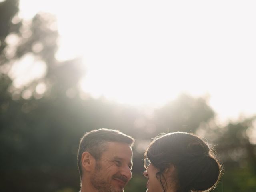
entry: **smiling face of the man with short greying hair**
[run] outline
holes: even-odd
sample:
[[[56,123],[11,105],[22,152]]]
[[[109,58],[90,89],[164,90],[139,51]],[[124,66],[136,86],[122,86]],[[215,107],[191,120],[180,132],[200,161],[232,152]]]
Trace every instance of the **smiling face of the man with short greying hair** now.
[[[107,142],[90,181],[99,192],[123,192],[132,178],[132,149],[128,144]]]

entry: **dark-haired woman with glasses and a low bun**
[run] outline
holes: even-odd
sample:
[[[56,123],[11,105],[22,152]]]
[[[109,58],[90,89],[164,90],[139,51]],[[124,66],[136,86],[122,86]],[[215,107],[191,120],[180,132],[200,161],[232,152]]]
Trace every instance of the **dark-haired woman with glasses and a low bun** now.
[[[208,145],[194,134],[174,132],[155,138],[144,154],[147,192],[208,191],[221,166]]]

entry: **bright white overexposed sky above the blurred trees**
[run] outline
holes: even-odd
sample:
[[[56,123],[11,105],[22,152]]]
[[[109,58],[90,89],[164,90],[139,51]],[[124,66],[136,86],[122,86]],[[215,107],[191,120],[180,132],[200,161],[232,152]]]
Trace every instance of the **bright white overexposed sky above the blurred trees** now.
[[[220,120],[256,113],[255,0],[20,0],[21,15],[58,17],[57,57],[82,55],[81,87],[158,106],[209,94]]]

